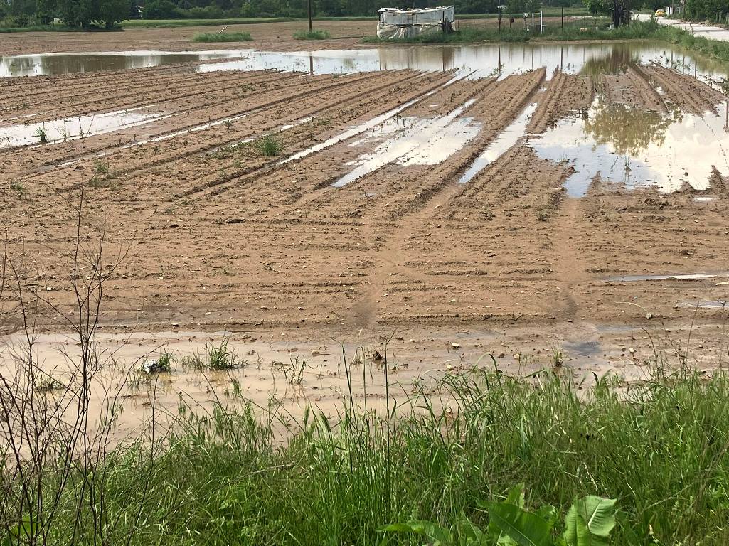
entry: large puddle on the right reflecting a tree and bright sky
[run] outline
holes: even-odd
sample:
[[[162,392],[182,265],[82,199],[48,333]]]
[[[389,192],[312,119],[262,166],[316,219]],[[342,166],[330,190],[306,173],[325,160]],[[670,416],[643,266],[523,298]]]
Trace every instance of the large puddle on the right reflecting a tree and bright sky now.
[[[597,173],[627,187],[655,185],[673,192],[688,183],[705,190],[712,166],[729,175],[726,106],[717,110],[666,115],[596,101],[586,117],[561,120],[529,146],[542,159],[574,167],[565,182],[569,195],[585,195]]]

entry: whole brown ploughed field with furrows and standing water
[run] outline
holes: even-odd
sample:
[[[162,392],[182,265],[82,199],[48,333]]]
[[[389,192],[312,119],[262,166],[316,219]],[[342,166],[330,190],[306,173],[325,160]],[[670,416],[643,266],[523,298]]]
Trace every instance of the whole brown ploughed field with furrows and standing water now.
[[[305,399],[337,399],[340,342],[371,359],[394,339],[403,393],[486,353],[549,365],[550,346],[576,376],[637,377],[644,328],[668,351],[701,339],[701,365],[726,354],[725,67],[542,44],[17,55],[0,75],[8,335],[19,292],[63,331],[77,235],[104,233],[104,343],[134,340],[120,362],[235,332],[259,403],[291,394],[292,355]],[[188,372],[171,401],[208,397]]]

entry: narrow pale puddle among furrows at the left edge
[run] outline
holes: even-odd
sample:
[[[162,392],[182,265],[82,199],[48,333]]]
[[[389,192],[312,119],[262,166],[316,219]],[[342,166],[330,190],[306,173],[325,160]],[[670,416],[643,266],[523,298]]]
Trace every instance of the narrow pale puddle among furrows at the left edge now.
[[[144,125],[153,120],[165,119],[156,112],[149,112],[147,107],[139,109],[118,110],[104,114],[88,114],[84,116],[66,117],[63,120],[28,123],[0,127],[0,148],[41,144],[44,133],[47,143],[80,139],[82,136],[111,133],[122,128]]]

